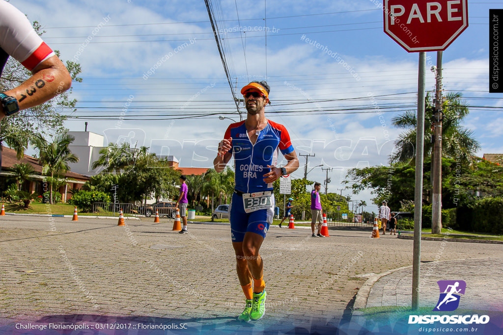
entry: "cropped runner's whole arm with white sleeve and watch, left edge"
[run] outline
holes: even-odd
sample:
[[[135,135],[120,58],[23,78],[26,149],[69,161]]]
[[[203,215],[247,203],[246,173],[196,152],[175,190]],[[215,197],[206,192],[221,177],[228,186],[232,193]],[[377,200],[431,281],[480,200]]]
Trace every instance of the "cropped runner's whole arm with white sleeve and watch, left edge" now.
[[[68,70],[33,30],[25,15],[11,4],[0,1],[0,74],[9,56],[33,75],[21,85],[0,92],[0,120],[50,100],[70,88]],[[0,166],[1,162],[0,154]]]

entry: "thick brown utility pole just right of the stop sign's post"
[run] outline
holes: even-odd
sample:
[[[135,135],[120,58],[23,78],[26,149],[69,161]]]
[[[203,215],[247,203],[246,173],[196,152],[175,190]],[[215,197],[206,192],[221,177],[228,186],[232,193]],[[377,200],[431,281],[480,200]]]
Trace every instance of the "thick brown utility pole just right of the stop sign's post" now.
[[[432,234],[442,231],[442,51],[437,51],[435,92],[435,144],[433,146]]]

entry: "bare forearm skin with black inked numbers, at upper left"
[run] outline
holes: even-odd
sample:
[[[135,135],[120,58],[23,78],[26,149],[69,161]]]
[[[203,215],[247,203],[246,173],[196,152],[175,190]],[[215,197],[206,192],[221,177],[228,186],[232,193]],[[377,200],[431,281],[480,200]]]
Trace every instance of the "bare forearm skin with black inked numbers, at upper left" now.
[[[18,100],[20,110],[44,103],[71,86],[71,76],[57,56],[44,60],[32,72],[21,85],[5,92]],[[1,105],[0,111],[1,120],[5,117]]]

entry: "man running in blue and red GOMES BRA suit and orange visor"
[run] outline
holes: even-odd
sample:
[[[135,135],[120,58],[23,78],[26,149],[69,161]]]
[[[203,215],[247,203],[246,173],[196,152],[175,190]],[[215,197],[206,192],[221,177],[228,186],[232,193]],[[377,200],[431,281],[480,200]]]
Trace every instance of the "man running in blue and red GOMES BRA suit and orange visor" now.
[[[259,250],[273,220],[273,182],[299,167],[286,128],[266,119],[269,91],[265,81],[250,82],[241,89],[246,120],[227,128],[213,160],[215,170],[221,172],[234,156],[236,186],[229,216],[237,277],[246,298],[238,319],[246,322],[262,318],[266,311],[264,262]],[[283,167],[276,166],[278,149],[288,161]]]

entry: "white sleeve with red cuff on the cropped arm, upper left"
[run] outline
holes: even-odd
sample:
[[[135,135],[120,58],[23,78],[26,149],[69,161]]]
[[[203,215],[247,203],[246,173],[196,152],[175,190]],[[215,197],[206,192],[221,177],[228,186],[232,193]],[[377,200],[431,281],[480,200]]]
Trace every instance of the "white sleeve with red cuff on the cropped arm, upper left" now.
[[[30,71],[55,55],[26,16],[5,1],[0,1],[0,47]]]

